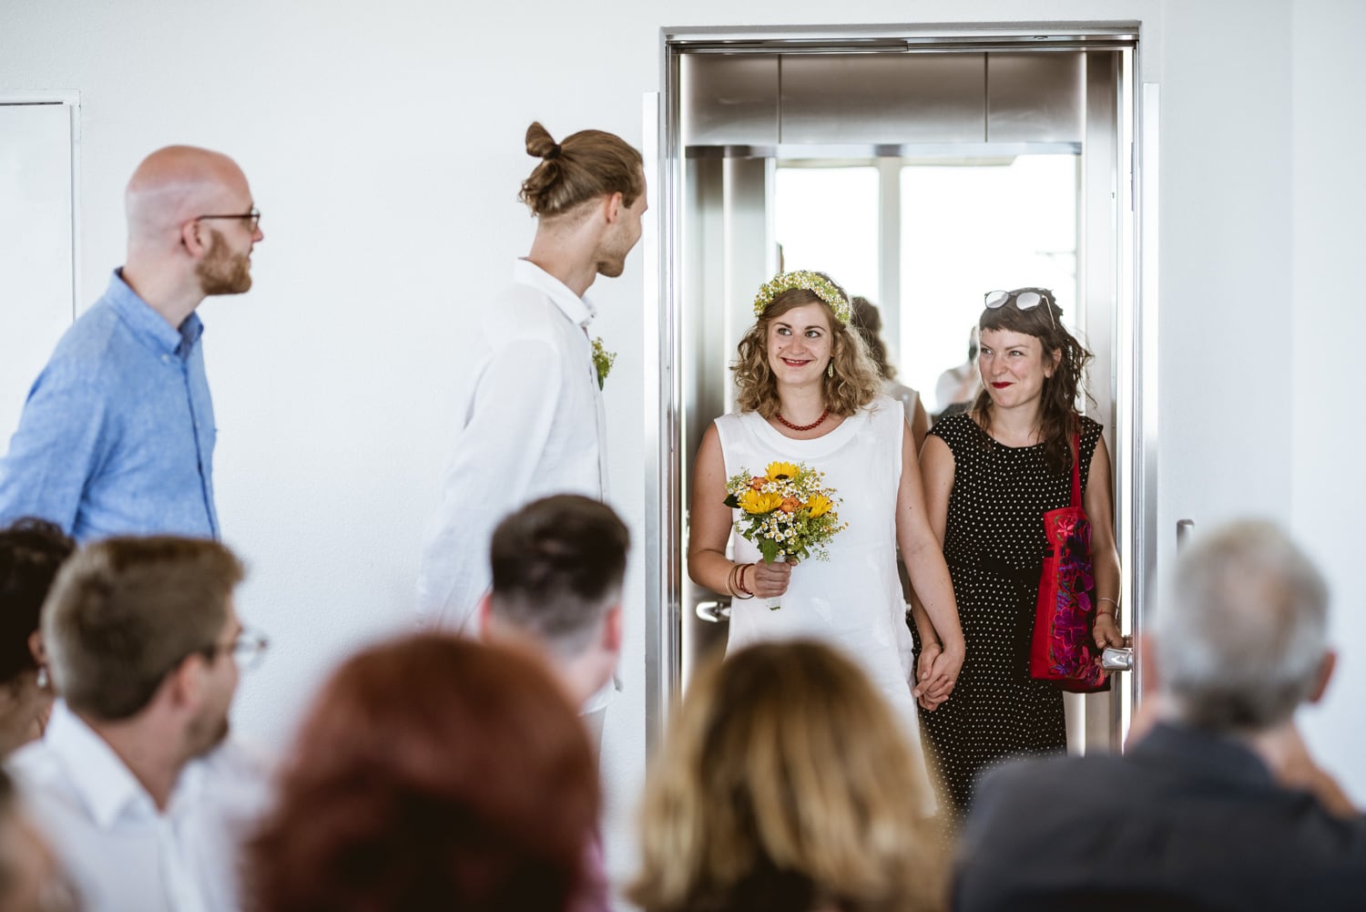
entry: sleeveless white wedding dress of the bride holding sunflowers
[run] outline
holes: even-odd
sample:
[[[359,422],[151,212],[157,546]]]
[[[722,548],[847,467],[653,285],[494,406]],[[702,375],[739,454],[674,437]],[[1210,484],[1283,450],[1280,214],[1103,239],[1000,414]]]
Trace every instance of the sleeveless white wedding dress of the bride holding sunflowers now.
[[[731,602],[727,651],[759,640],[810,637],[840,647],[856,660],[902,719],[915,748],[926,801],[929,777],[921,752],[921,727],[911,697],[914,663],[906,603],[896,574],[896,492],[902,480],[902,403],[877,397],[822,438],[792,440],[757,412],[716,420],[727,477],[764,474],[769,462],[805,462],[825,473],[835,488],[840,522],[848,528],[829,543],[829,561],[814,558],[792,567],[776,611],[764,599]],[[739,517],[739,510],[735,511]],[[735,559],[762,561],[758,548],[734,536]]]

